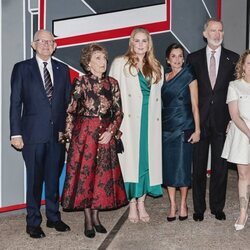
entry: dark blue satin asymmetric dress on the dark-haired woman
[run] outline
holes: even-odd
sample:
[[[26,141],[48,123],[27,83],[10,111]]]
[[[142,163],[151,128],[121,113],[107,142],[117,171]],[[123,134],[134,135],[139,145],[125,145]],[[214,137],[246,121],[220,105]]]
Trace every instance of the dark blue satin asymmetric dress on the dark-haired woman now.
[[[163,185],[191,186],[192,144],[184,142],[184,131],[194,129],[189,84],[195,79],[185,66],[162,86]]]

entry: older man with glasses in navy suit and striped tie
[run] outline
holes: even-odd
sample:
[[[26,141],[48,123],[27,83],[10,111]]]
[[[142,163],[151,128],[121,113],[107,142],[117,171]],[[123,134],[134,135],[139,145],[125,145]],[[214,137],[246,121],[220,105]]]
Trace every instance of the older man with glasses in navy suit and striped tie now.
[[[39,30],[32,48],[36,55],[15,64],[11,76],[11,145],[22,150],[27,172],[27,227],[32,238],[45,234],[40,227],[41,194],[45,182],[47,227],[69,231],[59,212],[59,177],[65,146],[58,142],[64,132],[70,94],[68,67],[51,58],[56,49],[53,35]]]

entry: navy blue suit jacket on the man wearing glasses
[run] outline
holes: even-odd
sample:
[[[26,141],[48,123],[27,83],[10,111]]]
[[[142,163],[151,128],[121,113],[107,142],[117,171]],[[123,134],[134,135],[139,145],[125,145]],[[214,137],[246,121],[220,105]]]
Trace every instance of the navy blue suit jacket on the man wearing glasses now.
[[[54,89],[51,104],[46,95],[36,58],[15,64],[11,76],[10,135],[21,135],[24,143],[45,143],[64,132],[70,95],[68,67],[51,59]]]

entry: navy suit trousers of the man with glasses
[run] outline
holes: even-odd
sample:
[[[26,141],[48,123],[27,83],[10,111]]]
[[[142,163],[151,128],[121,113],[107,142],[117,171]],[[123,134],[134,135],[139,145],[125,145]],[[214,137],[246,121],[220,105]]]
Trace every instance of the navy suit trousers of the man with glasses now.
[[[43,182],[45,183],[46,217],[60,220],[59,178],[64,165],[64,145],[51,136],[47,143],[24,144],[23,158],[27,174],[27,225],[37,227],[42,222],[40,213]]]

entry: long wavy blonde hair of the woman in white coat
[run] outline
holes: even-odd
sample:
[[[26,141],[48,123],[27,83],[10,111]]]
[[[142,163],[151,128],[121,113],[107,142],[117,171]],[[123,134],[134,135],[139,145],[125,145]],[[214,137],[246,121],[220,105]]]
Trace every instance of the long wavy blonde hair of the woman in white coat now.
[[[130,39],[129,39],[129,47],[128,51],[124,55],[128,58],[127,64],[129,64],[129,72],[132,75],[132,67],[137,68],[137,64],[139,62],[139,59],[134,52],[134,46],[133,46],[133,40],[137,33],[143,33],[147,36],[148,39],[148,51],[146,52],[144,59],[143,59],[143,68],[142,73],[146,77],[146,79],[151,79],[150,84],[158,83],[162,77],[161,73],[161,64],[160,62],[155,58],[154,55],[154,47],[153,47],[153,41],[152,37],[150,36],[148,30],[144,28],[135,28],[133,29]]]

